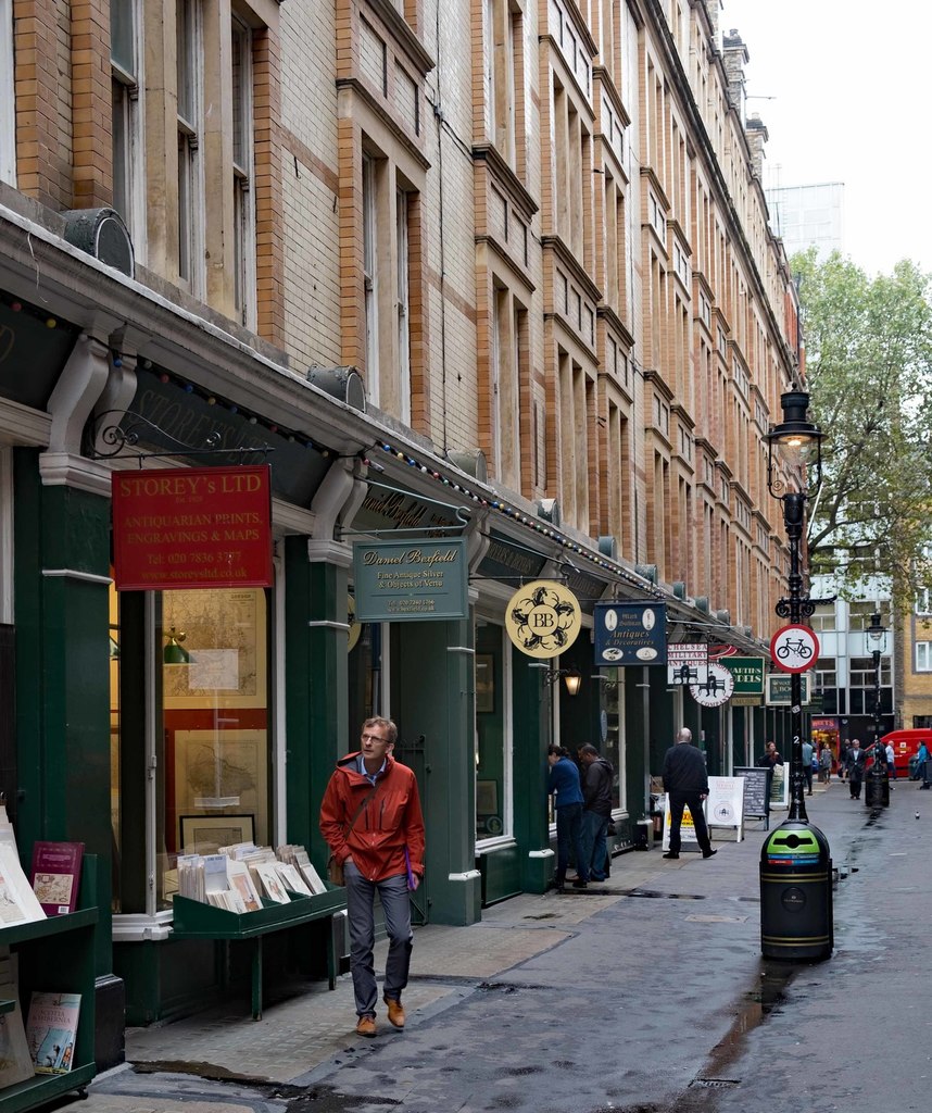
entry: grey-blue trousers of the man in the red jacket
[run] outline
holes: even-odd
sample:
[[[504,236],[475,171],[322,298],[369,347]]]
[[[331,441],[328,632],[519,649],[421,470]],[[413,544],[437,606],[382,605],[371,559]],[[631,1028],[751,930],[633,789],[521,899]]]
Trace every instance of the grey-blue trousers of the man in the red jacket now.
[[[385,914],[385,930],[388,935],[388,957],[385,961],[384,996],[401,999],[401,991],[408,984],[408,968],[412,961],[412,906],[408,898],[408,879],[405,874],[386,877],[384,881],[370,881],[349,861],[344,867],[346,879],[346,912],[349,919],[349,968],[353,972],[353,994],[356,1012],[375,1015],[378,989],[373,963],[376,942],[373,905],[378,890],[381,910]]]

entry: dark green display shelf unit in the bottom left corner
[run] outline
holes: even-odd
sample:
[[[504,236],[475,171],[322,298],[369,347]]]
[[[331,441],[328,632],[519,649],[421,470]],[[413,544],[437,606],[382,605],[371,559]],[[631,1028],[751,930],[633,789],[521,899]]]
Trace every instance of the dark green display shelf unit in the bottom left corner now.
[[[0,945],[19,956],[19,999],[26,1014],[33,992],[77,993],[81,997],[73,1066],[65,1074],[37,1074],[0,1090],[0,1113],[20,1113],[71,1091],[83,1092],[95,1063],[95,932],[97,856],[85,855],[78,908],[62,916],[0,928]],[[0,1009],[13,1003],[0,1002]],[[4,1011],[6,1011],[4,1009]]]

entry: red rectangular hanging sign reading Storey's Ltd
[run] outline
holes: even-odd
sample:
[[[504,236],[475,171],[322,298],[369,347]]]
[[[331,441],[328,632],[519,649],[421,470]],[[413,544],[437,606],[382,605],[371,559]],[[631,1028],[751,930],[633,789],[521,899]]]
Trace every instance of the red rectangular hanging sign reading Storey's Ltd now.
[[[268,464],[113,472],[118,591],[270,588]]]

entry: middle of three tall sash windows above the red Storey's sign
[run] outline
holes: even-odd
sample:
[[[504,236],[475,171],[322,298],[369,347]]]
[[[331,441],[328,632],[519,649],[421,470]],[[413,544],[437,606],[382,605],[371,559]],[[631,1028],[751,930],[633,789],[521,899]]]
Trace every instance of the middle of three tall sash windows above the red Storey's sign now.
[[[190,104],[178,93],[178,283],[195,297],[205,292],[204,242],[204,21],[199,0],[177,0],[177,86],[187,82]],[[188,108],[188,116],[182,114]],[[188,118],[190,117],[190,119]],[[187,273],[186,273],[187,272]]]

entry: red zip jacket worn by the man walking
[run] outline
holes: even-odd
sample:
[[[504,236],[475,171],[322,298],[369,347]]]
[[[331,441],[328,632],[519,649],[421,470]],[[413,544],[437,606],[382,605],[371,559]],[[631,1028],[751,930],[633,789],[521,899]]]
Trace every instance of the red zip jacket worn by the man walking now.
[[[393,757],[386,757],[375,795],[356,817],[347,838],[350,819],[371,790],[371,782],[359,772],[359,754],[341,758],[320,805],[320,834],[337,861],[353,855],[356,867],[370,881],[404,874],[405,847],[412,870],[423,877],[424,816],[417,780],[407,766]]]

